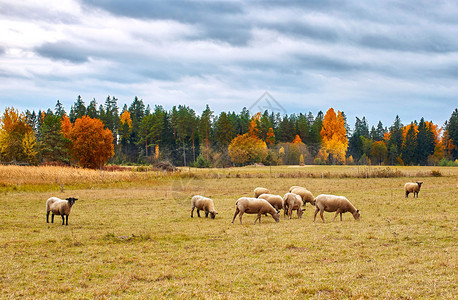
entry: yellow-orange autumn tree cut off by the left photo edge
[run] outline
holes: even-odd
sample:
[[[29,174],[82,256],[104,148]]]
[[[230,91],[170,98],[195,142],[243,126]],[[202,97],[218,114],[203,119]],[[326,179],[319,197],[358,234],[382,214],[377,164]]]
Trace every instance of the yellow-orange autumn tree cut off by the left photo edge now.
[[[0,118],[0,160],[33,163],[36,142],[32,134],[33,129],[24,113],[12,107],[6,108]]]

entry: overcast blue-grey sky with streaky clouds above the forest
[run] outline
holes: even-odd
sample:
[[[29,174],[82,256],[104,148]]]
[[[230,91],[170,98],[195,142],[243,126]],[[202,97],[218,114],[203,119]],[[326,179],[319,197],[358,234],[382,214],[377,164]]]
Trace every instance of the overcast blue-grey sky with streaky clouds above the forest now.
[[[0,111],[137,96],[442,126],[458,107],[457,16],[456,0],[0,0]]]

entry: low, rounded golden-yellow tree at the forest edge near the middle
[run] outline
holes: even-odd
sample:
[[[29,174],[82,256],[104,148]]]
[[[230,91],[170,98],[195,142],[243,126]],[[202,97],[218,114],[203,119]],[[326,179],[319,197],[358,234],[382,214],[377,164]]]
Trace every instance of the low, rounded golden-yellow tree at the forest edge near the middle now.
[[[267,157],[267,145],[249,132],[238,135],[229,144],[231,161],[238,164],[262,162]]]

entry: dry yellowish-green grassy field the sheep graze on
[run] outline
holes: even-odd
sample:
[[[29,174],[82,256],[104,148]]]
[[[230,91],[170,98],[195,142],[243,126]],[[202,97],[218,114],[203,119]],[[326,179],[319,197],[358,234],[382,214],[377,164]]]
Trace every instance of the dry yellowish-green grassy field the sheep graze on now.
[[[400,177],[374,178],[377,170]],[[405,199],[404,183],[416,179],[419,198]],[[458,168],[438,167],[170,175],[0,166],[0,297],[454,299],[457,179]],[[325,213],[313,223],[307,204],[302,219],[231,224],[237,198],[291,185],[345,195],[361,220]],[[216,219],[190,218],[194,194],[214,199]],[[69,226],[46,223],[50,196],[79,198]]]

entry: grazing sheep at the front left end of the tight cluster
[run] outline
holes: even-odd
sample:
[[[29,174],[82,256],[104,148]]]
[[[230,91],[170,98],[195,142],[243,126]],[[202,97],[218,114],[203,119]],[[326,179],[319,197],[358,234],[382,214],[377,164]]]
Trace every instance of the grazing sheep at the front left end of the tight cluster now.
[[[261,224],[261,215],[269,213],[275,222],[280,220],[280,214],[277,210],[266,200],[259,198],[249,198],[241,197],[235,202],[235,213],[232,218],[232,224],[234,223],[235,217],[240,213],[240,224],[242,224],[242,215],[247,214],[257,214],[258,217],[254,220],[254,224],[259,220]]]

